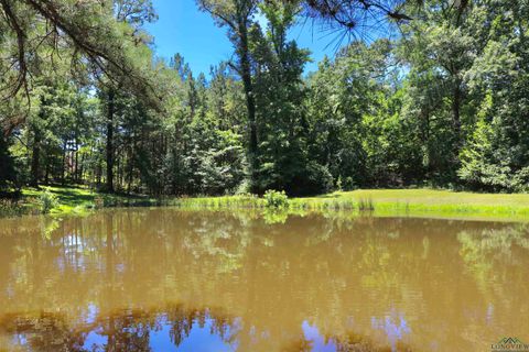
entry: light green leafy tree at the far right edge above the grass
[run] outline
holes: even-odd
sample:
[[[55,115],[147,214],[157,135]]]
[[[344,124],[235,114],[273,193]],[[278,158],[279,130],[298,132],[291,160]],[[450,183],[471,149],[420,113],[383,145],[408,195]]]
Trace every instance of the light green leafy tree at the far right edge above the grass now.
[[[468,70],[471,92],[481,98],[478,121],[461,152],[458,175],[475,189],[528,190],[529,44],[519,25],[521,12],[506,12],[504,4],[477,7],[476,19],[490,21],[482,29],[488,40]],[[519,11],[527,10],[522,4]]]

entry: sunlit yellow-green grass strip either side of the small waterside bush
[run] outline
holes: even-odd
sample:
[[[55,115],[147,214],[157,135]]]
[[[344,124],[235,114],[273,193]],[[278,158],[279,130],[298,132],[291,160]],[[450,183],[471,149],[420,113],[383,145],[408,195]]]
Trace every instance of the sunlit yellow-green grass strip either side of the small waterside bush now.
[[[253,196],[183,198],[173,202],[185,208],[267,208],[264,199]],[[370,212],[375,216],[529,220],[529,195],[433,189],[363,189],[311,198],[291,198],[285,209]]]

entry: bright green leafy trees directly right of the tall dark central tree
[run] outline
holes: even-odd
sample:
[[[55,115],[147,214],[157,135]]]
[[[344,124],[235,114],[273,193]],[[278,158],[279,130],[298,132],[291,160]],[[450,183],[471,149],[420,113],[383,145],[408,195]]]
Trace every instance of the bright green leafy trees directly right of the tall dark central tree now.
[[[346,190],[410,184],[422,177],[418,138],[401,118],[393,43],[355,42],[310,79],[311,155]]]

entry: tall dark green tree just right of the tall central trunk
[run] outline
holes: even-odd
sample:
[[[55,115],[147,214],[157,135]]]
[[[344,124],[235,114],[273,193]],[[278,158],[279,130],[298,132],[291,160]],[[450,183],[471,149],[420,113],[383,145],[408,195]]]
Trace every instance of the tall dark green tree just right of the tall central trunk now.
[[[259,123],[259,169],[255,189],[284,189],[310,195],[330,189],[328,172],[307,154],[309,127],[302,73],[309,52],[287,38],[294,24],[295,2],[261,4],[268,19],[263,32],[253,26],[250,53],[257,63],[256,105]]]

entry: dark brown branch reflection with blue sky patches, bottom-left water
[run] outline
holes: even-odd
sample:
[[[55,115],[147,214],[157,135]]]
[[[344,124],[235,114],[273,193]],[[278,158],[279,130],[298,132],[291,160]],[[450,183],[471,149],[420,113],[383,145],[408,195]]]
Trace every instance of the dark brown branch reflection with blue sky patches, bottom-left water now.
[[[74,322],[61,314],[10,316],[9,342],[30,351],[235,351],[238,321],[210,310],[126,310]]]

